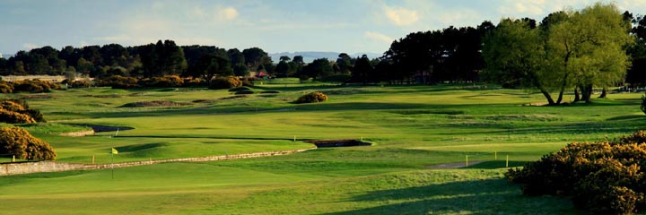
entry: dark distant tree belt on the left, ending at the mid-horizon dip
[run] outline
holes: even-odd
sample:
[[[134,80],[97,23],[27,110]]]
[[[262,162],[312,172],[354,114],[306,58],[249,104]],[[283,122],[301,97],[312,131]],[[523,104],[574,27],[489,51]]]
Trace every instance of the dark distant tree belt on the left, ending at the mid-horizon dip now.
[[[120,75],[136,78],[181,75],[210,78],[214,75],[240,75],[272,64],[258,47],[240,51],[214,46],[178,46],[172,40],[159,40],[143,46],[118,44],[86,47],[39,47],[19,51],[9,59],[0,58],[3,75],[83,74],[94,78]]]

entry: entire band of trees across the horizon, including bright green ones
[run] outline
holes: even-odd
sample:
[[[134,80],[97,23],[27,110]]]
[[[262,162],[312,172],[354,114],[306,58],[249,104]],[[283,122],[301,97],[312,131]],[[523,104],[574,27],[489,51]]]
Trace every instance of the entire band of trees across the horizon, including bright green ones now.
[[[561,103],[565,89],[575,89],[576,99],[588,101],[593,87],[644,86],[643,69],[646,19],[620,13],[614,4],[550,13],[541,22],[502,19],[497,25],[485,21],[476,27],[412,32],[375,59],[342,53],[309,64],[302,56],[281,56],[275,63],[259,47],[180,47],[172,40],[136,47],[40,47],[0,58],[0,74],[180,75],[211,80],[253,71],[333,82],[497,82],[540,90],[550,104]]]

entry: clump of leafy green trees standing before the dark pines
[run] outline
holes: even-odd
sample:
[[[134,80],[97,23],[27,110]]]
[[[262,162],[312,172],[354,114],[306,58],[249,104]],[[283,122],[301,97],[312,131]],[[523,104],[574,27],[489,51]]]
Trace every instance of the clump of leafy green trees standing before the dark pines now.
[[[528,20],[503,20],[485,38],[486,70],[497,82],[519,82],[540,90],[550,105],[563,91],[581,89],[589,102],[592,88],[621,82],[629,66],[624,47],[629,27],[614,4],[594,4],[581,12],[552,13],[537,29]],[[556,101],[550,91],[558,90]]]

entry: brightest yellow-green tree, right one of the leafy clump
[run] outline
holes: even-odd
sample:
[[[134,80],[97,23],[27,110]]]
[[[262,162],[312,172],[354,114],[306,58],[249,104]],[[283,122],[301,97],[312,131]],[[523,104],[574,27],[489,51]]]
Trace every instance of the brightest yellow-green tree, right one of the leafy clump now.
[[[624,81],[630,66],[625,47],[633,43],[630,22],[615,4],[597,3],[570,14],[550,32],[547,46],[554,52],[548,54],[560,57],[549,59],[558,58],[562,73],[571,74],[563,79],[561,90],[571,82],[581,89],[581,99],[589,102],[594,86],[607,88]]]

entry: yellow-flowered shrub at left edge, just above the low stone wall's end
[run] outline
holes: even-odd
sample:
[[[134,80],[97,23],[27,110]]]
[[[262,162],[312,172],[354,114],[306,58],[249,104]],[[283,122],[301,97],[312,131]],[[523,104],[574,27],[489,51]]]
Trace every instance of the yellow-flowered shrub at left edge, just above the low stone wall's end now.
[[[0,128],[0,154],[15,155],[20,159],[56,159],[56,151],[48,142],[31,136],[19,127]]]

